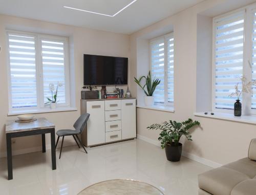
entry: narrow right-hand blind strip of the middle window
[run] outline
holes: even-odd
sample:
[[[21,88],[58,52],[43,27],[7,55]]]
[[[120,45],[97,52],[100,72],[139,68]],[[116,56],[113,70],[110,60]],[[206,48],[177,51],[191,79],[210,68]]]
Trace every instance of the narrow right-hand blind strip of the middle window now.
[[[168,84],[168,102],[174,102],[174,37],[169,36],[167,38],[167,84]]]

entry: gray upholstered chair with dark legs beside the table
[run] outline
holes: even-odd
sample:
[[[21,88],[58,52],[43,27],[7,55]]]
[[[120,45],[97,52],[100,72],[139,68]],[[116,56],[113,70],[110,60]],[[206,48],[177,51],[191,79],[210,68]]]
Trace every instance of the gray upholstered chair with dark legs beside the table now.
[[[78,134],[81,134],[83,132],[83,129],[84,127],[86,127],[86,124],[87,124],[87,121],[90,117],[90,114],[86,113],[86,114],[82,114],[77,120],[76,122],[74,123],[74,128],[75,130],[71,130],[71,129],[61,129],[59,131],[56,132],[58,138],[57,138],[57,142],[56,142],[56,145],[55,145],[55,148],[57,148],[57,144],[58,144],[58,141],[59,141],[59,137],[62,137],[62,141],[61,141],[61,147],[60,147],[60,153],[59,153],[59,159],[60,159],[60,156],[61,156],[61,151],[62,151],[62,146],[63,146],[63,141],[64,141],[64,137],[65,136],[73,136],[73,138],[75,139],[76,141],[76,144],[78,145],[78,147],[80,148],[77,140],[79,141],[79,143],[81,144],[81,146],[83,147],[84,151],[86,151],[86,148],[84,148],[81,140],[79,139],[79,137],[77,136]],[[76,138],[77,140],[76,140]],[[86,151],[87,153],[87,151]]]

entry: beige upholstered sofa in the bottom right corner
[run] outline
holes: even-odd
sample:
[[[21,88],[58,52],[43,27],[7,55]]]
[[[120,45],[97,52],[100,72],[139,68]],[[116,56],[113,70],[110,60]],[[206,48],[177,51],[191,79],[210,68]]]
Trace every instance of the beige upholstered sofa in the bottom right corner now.
[[[199,195],[255,195],[256,139],[252,139],[248,158],[226,164],[198,176]]]

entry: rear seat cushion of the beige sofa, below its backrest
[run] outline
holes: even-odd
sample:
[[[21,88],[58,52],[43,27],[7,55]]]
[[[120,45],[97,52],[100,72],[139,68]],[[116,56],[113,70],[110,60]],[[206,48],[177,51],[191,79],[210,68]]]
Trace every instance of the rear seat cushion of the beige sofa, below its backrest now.
[[[241,172],[242,174],[249,176],[249,178],[251,179],[256,176],[256,162],[251,161],[248,158],[244,158],[236,162],[226,164],[223,167]]]

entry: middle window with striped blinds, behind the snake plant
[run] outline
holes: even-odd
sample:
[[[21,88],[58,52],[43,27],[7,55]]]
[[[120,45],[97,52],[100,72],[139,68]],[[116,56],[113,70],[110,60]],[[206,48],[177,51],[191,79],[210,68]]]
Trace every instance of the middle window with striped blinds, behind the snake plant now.
[[[154,96],[155,103],[173,105],[174,102],[174,37],[173,33],[151,40],[151,73],[160,79]]]

